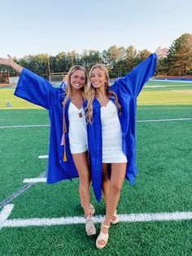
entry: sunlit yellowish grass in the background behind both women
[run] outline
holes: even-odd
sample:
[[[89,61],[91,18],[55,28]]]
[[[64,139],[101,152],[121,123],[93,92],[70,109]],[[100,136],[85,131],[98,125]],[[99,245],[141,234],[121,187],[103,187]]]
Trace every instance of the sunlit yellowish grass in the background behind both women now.
[[[14,90],[11,88],[0,90],[0,109],[42,109],[24,99],[15,97],[13,95]],[[12,106],[7,107],[7,103],[12,104]],[[137,103],[142,105],[192,104],[192,83],[148,82],[139,95]]]

